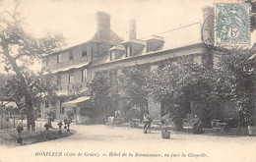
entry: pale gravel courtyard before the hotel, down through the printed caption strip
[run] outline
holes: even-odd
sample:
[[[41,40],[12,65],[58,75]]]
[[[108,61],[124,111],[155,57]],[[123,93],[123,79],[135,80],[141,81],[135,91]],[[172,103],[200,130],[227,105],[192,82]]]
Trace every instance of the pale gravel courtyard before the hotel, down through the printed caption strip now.
[[[256,161],[255,136],[172,132],[170,139],[162,139],[160,131],[145,135],[140,129],[102,125],[72,125],[71,129],[77,134],[26,146],[0,146],[0,161]]]

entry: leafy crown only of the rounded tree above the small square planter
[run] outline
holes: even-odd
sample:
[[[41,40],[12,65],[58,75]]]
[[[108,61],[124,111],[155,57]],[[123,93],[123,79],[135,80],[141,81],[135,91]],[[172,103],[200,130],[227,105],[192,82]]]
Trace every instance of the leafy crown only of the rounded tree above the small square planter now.
[[[149,95],[155,102],[172,98],[173,103],[179,103],[186,95],[192,100],[209,98],[212,77],[203,65],[181,58],[176,62],[167,61],[160,67],[152,73],[148,83]]]

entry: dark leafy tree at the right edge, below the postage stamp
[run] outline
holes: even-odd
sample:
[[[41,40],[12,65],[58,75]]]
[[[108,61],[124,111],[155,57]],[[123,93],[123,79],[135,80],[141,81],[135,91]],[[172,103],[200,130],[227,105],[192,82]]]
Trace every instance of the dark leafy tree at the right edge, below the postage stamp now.
[[[255,58],[250,59],[255,50],[256,45],[230,50],[230,55],[221,57],[215,76],[213,95],[234,102],[243,125],[255,124]]]

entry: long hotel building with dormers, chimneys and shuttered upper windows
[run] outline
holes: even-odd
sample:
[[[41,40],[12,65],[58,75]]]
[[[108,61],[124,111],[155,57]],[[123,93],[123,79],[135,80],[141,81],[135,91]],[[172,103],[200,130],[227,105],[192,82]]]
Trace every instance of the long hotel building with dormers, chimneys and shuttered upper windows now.
[[[203,22],[211,13],[212,8],[203,10]],[[202,26],[203,23],[198,22],[139,39],[136,36],[136,21],[131,20],[129,39],[123,40],[111,30],[110,15],[98,12],[95,36],[85,43],[45,56],[42,68],[51,71],[59,96],[68,95],[70,90],[86,90],[87,83],[94,79],[96,72],[118,67],[153,63],[150,67],[153,70],[158,66],[154,63],[161,60],[191,56],[194,61],[212,68],[211,51],[202,40],[202,33],[210,32],[202,32]],[[212,26],[204,28],[213,29]],[[57,118],[63,119],[66,112],[71,110],[75,112],[78,121],[90,123],[89,117],[80,113],[87,109],[89,99],[59,99],[55,105],[45,102],[40,107],[41,117],[46,118],[45,112],[55,111]],[[119,108],[122,110],[122,106]],[[160,104],[149,102],[148,109],[154,119],[159,119],[162,115]]]

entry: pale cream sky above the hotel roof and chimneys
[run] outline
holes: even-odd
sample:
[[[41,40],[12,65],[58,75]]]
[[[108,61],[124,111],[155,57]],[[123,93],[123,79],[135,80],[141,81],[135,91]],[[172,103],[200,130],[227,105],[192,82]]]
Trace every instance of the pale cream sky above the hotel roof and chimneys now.
[[[137,37],[141,38],[200,22],[202,8],[214,3],[208,0],[23,0],[19,11],[26,30],[34,36],[62,33],[70,47],[94,36],[97,11],[110,14],[111,29],[127,39],[131,19],[136,20]],[[11,10],[14,5],[10,0],[0,0],[0,6]]]

